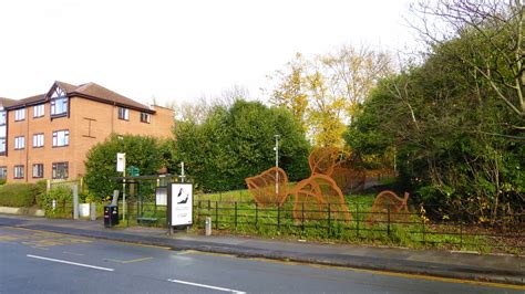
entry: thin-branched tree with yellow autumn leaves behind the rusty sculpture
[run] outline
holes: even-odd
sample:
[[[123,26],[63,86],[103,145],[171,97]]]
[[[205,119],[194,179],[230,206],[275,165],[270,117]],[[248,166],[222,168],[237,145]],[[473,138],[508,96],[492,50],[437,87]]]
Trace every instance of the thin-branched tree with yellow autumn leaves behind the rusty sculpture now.
[[[353,109],[390,71],[389,55],[366,46],[341,46],[312,60],[298,53],[270,76],[276,80],[270,101],[299,117],[316,145],[340,146]]]

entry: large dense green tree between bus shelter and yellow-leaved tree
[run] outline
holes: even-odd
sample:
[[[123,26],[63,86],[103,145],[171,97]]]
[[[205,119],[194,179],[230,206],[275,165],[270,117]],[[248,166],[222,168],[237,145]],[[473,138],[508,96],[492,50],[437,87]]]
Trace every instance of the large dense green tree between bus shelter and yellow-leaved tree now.
[[[280,135],[280,166],[289,177],[308,172],[309,145],[299,122],[284,108],[237,99],[215,106],[202,124],[181,122],[175,153],[188,176],[205,191],[245,188],[244,179],[275,165],[275,135]]]

